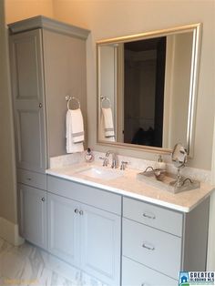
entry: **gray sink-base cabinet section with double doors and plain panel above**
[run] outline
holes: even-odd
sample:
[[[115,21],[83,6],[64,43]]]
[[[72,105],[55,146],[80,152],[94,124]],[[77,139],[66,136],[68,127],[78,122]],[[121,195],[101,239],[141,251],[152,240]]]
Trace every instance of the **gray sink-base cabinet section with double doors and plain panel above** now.
[[[47,189],[48,250],[119,286],[121,197],[52,176],[47,176]]]

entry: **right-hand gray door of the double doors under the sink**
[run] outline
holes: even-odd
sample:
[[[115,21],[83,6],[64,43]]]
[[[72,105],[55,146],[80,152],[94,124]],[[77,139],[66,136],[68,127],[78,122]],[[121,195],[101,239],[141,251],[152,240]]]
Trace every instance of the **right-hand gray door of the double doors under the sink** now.
[[[119,285],[120,217],[82,204],[80,219],[81,269],[108,285]]]

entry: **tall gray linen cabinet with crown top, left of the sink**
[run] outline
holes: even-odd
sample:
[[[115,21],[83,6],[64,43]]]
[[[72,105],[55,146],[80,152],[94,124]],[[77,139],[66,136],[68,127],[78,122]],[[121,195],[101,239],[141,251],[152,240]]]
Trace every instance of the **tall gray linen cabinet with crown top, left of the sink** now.
[[[45,170],[66,154],[66,96],[78,98],[87,128],[89,31],[41,15],[8,27],[20,234],[46,249]]]

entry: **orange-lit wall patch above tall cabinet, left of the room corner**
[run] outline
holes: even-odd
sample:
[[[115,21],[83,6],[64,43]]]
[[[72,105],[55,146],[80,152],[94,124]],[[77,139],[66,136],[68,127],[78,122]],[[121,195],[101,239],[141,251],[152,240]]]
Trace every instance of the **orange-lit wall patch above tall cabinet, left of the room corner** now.
[[[35,15],[53,17],[52,0],[5,0],[6,23],[13,23]]]

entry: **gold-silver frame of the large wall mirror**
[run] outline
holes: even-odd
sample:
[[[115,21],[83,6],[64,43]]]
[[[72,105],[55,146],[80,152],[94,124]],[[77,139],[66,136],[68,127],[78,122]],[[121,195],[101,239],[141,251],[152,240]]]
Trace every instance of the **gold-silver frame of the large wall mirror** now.
[[[188,125],[187,125],[187,153],[189,158],[193,158],[194,155],[194,133],[195,133],[195,121],[196,121],[196,106],[197,106],[197,93],[198,93],[198,79],[199,79],[199,68],[200,68],[200,37],[201,37],[202,24],[191,24],[186,26],[171,27],[168,29],[156,30],[145,32],[132,36],[119,36],[115,38],[109,38],[97,41],[97,143],[105,146],[113,146],[120,148],[132,148],[137,150],[145,150],[149,152],[159,152],[169,154],[172,149],[169,148],[158,148],[149,147],[142,145],[134,145],[121,142],[107,142],[98,139],[98,120],[99,120],[99,47],[107,44],[118,44],[128,43],[137,40],[149,39],[157,36],[169,36],[172,34],[179,34],[182,32],[193,32],[193,46],[191,56],[191,70],[190,70],[190,85],[189,85],[189,107],[188,107]],[[177,142],[176,142],[177,143]]]

